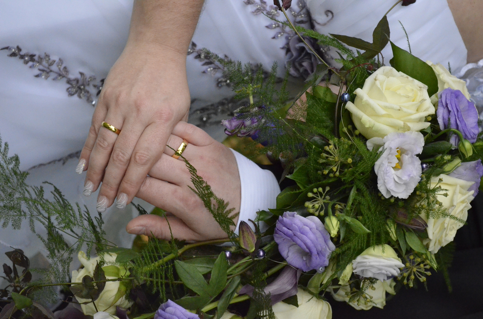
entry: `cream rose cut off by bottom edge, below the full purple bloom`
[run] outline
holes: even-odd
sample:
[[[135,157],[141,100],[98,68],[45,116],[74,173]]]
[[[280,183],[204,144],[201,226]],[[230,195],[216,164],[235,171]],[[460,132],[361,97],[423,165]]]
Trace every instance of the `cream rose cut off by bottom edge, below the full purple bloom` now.
[[[298,307],[278,302],[273,305],[277,319],[332,319],[332,307],[325,300],[315,298],[301,289],[297,292]]]

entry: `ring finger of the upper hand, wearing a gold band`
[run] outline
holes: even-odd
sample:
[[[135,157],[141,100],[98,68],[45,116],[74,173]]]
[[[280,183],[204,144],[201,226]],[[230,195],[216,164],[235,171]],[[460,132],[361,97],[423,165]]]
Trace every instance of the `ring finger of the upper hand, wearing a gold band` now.
[[[105,121],[119,130],[121,130],[123,125],[123,120],[121,118],[110,117],[109,114],[106,116]],[[89,157],[87,172],[85,175],[85,196],[89,196],[99,187],[117,137],[118,135],[116,133],[99,124],[99,132]],[[105,211],[105,208],[103,211]],[[99,212],[102,213],[103,211],[101,210]]]

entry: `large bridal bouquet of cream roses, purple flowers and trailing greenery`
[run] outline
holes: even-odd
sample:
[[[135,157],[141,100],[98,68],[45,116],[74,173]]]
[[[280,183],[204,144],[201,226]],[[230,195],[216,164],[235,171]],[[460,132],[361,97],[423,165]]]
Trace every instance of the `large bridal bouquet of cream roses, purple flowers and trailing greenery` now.
[[[104,239],[100,214],[72,206],[57,188],[54,200],[45,199],[3,148],[3,226],[28,219],[35,231],[40,223],[52,266],[32,281],[23,252],[8,253],[1,319],[54,318],[43,305],[55,286],[71,301],[56,318],[330,319],[329,295],[355,309],[382,308],[386,293],[426,285],[431,271],[447,275],[452,241],[483,175],[478,113],[465,82],[392,42],[385,66],[385,16],[372,43],[290,20],[289,27],[320,61],[293,99],[276,66],[267,76],[218,59],[238,96],[250,99],[224,122],[226,132],[251,137],[257,152],[280,162],[281,181],[292,181],[275,209],[241,222],[238,236],[227,202],[186,162],[193,190],[228,239],[115,247]],[[325,64],[308,38],[339,52],[339,65]],[[70,272],[72,254],[83,268]]]

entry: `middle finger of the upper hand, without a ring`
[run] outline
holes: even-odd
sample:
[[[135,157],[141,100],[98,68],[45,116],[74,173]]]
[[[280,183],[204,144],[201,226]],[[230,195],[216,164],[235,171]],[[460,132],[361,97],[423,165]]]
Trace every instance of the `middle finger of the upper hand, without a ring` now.
[[[124,193],[120,193],[118,196],[118,189],[128,169],[134,147],[143,132],[143,128],[139,124],[135,120],[126,120],[123,130],[115,140],[99,190],[98,202],[103,204],[102,207],[99,207],[100,210],[111,206],[116,196],[117,208],[126,207],[128,197]]]

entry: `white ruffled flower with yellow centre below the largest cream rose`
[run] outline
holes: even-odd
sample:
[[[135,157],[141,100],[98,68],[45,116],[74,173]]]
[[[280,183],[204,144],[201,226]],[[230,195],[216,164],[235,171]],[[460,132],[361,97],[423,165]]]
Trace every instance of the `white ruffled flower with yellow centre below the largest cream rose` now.
[[[423,151],[424,137],[419,132],[390,133],[373,137],[367,148],[384,146],[384,152],[374,165],[377,187],[385,198],[407,199],[421,179],[421,160],[416,156]]]

